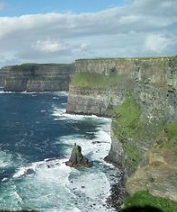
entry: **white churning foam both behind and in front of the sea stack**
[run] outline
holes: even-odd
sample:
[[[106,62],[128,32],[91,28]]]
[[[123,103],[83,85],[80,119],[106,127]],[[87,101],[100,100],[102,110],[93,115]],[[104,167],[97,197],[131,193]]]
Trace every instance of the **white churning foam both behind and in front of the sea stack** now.
[[[106,125],[105,129],[109,131],[109,124]],[[110,136],[106,131],[99,126],[94,139],[78,134],[64,136],[60,138],[60,143],[70,145],[68,157],[73,142],[77,142],[90,160],[103,161],[110,148]],[[79,171],[67,167],[65,161],[66,159],[49,158],[22,167],[15,173],[16,178],[26,178],[23,196],[28,196],[28,202],[24,204],[29,207],[32,205],[33,208],[40,207],[41,211],[46,212],[113,212],[114,209],[105,207],[106,198],[110,195],[110,183],[105,173],[97,167]],[[31,170],[35,174],[31,175]]]

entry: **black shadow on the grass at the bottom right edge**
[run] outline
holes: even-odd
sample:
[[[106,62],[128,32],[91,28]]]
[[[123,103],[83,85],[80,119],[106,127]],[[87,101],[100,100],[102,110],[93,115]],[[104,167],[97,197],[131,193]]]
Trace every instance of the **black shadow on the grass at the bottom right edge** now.
[[[134,206],[134,207],[128,207],[125,209],[120,210],[120,212],[164,212],[159,208],[155,208],[152,206],[144,206],[144,207],[140,207],[140,206]]]

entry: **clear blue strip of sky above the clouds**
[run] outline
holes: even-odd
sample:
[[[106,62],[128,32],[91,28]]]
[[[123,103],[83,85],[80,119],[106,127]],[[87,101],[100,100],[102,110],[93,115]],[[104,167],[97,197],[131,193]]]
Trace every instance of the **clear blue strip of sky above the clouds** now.
[[[49,12],[97,12],[123,5],[124,0],[6,0],[1,15],[19,16]]]

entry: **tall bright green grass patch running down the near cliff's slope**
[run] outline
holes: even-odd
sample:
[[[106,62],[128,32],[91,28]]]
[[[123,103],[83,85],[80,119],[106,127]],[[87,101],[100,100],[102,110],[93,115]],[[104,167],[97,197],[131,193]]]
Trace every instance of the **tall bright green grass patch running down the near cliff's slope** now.
[[[142,152],[137,147],[140,116],[141,109],[133,97],[127,98],[113,113],[113,134],[123,144],[125,164],[129,172],[135,171],[142,160]]]

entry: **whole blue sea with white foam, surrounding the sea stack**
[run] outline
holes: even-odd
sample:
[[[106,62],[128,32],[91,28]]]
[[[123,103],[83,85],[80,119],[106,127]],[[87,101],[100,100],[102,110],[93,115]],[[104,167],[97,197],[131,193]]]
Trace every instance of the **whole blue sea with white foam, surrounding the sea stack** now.
[[[0,93],[0,208],[112,212],[111,120],[65,114],[66,93]],[[95,141],[95,142],[94,142]],[[99,141],[99,142],[97,142]],[[74,143],[93,167],[65,166]]]

